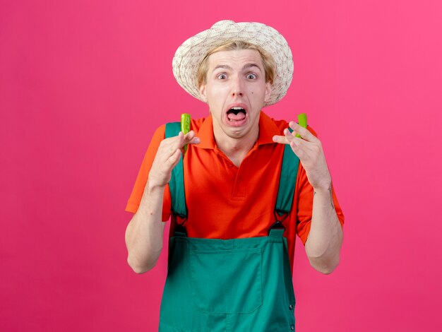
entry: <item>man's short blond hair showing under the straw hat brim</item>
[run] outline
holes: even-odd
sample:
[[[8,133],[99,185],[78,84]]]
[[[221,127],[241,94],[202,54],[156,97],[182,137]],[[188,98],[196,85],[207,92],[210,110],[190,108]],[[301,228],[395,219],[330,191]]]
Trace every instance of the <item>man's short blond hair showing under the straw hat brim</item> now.
[[[275,79],[275,71],[276,71],[276,63],[273,57],[270,54],[268,54],[268,52],[265,52],[258,45],[238,40],[233,42],[224,42],[221,45],[215,46],[213,47],[213,49],[210,49],[210,51],[205,55],[205,58],[203,59],[203,61],[201,61],[201,64],[198,67],[198,73],[197,73],[198,87],[205,84],[205,78],[209,70],[209,57],[211,54],[222,51],[234,51],[237,49],[255,49],[256,51],[258,51],[263,61],[265,82],[270,82],[270,84],[273,84],[273,80]]]

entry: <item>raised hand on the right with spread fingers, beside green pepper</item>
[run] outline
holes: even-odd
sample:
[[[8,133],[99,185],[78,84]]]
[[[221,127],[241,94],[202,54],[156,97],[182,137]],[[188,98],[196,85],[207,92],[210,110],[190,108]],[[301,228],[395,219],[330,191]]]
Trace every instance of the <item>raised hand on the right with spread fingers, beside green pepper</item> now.
[[[321,141],[308,129],[299,126],[294,121],[290,121],[289,126],[293,129],[292,133],[289,129],[284,129],[285,136],[273,136],[273,141],[290,145],[306,170],[307,179],[315,191],[329,190],[331,176]],[[296,134],[299,134],[301,138],[295,137]]]

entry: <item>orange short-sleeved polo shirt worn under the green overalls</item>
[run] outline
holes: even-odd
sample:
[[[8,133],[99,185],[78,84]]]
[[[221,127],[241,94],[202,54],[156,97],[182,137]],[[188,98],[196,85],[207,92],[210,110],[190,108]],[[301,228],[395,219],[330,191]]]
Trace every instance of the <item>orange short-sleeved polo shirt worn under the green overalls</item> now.
[[[258,140],[237,167],[217,148],[212,117],[192,119],[191,129],[196,132],[201,143],[189,145],[183,160],[184,188],[189,211],[184,226],[189,237],[234,239],[268,235],[269,228],[275,223],[274,209],[284,152],[284,145],[273,142],[273,136],[283,135],[287,127],[287,121],[270,119],[261,112]],[[315,134],[310,127],[309,130]],[[165,125],[155,131],[150,141],[126,211],[136,213],[138,210],[150,167],[164,138]],[[334,191],[333,201],[338,219],[343,225],[344,215]],[[313,187],[300,164],[292,211],[284,220],[292,268],[296,235],[305,244],[310,230],[312,207]],[[169,186],[166,186],[162,220],[169,220],[170,214],[171,197]],[[170,236],[173,236],[174,223],[172,221]]]

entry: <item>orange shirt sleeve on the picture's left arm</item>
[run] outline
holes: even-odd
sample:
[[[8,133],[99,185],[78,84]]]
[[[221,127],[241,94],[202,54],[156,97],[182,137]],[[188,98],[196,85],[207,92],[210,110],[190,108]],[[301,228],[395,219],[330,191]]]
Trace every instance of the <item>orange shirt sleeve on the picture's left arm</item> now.
[[[160,126],[153,134],[153,138],[150,141],[148,150],[146,151],[143,162],[141,162],[140,170],[138,171],[138,176],[136,177],[135,184],[132,189],[131,196],[127,201],[126,211],[131,213],[136,213],[138,211],[138,206],[140,206],[141,197],[143,197],[144,187],[146,182],[148,182],[148,175],[150,172],[150,167],[152,167],[153,160],[157,154],[158,147],[163,139],[165,139],[165,125]],[[165,194],[162,203],[162,221],[169,220],[170,217],[170,191],[169,185],[165,187]]]

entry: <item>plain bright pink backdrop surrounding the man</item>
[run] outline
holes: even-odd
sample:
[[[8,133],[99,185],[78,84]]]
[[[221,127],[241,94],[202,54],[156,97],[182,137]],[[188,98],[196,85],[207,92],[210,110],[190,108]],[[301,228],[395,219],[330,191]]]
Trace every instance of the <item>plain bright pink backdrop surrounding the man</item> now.
[[[441,331],[442,2],[152,2],[0,2],[0,330],[156,330],[166,253],[131,271],[124,206],[155,128],[208,112],[174,51],[231,18],[291,45],[267,112],[309,114],[346,216],[332,275],[297,243],[297,331]]]

